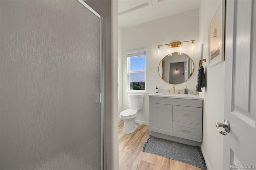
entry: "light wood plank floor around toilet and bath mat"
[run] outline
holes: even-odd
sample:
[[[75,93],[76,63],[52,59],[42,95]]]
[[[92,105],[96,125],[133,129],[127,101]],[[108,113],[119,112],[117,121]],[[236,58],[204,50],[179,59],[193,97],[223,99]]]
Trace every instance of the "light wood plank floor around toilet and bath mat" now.
[[[119,122],[119,169],[120,170],[202,170],[196,166],[143,152],[149,138],[147,125],[138,124],[131,134],[124,134],[124,121]]]

